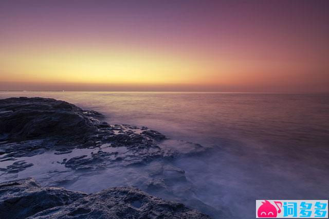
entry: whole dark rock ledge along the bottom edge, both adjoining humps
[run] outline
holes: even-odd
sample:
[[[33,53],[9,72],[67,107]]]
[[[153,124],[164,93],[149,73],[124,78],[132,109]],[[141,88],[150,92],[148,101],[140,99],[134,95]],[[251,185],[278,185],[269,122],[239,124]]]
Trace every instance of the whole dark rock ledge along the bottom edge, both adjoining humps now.
[[[139,189],[116,187],[95,194],[41,187],[25,178],[0,184],[0,218],[210,218],[183,204]]]

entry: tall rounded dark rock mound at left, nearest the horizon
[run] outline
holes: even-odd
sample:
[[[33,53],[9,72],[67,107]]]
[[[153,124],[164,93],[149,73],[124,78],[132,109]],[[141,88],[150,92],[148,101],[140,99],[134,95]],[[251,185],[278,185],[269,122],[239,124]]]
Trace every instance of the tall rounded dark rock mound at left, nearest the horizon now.
[[[2,114],[0,133],[8,133],[8,140],[28,140],[39,137],[65,136],[79,141],[84,133],[96,132],[92,116],[65,101],[46,98],[8,98],[0,100]]]

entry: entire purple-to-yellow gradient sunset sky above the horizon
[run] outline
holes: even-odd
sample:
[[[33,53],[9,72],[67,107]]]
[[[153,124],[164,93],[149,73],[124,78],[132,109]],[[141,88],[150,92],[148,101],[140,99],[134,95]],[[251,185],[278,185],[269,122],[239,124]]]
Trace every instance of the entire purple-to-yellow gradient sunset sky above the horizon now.
[[[0,90],[329,92],[329,1],[0,2]]]

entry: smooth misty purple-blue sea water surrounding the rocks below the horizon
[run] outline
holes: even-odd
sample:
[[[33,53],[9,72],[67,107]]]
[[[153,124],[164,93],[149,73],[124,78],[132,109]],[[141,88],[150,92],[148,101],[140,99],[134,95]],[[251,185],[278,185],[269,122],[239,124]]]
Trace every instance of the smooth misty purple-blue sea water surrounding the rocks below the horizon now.
[[[234,218],[253,218],[255,199],[327,199],[329,197],[329,95],[247,93],[118,93],[118,92],[3,92],[9,97],[65,100],[105,115],[110,124],[147,126],[170,138],[195,142],[208,153],[177,158],[170,163],[185,171],[192,196],[214,209],[229,209]],[[15,177],[32,176],[43,185],[71,172],[57,160],[83,154],[46,152],[29,158],[34,166]],[[122,150],[122,149],[120,149]],[[38,160],[38,162],[35,162]],[[11,161],[0,163],[7,166]],[[156,162],[156,161],[155,161]],[[147,167],[112,167],[79,175],[63,187],[96,192],[113,186],[141,185]],[[1,181],[8,177],[0,176]],[[175,188],[176,186],[176,188]],[[177,191],[185,185],[173,185]],[[177,192],[178,194],[179,192]],[[187,203],[182,197],[154,195]],[[207,209],[204,210],[205,213]],[[215,216],[215,215],[213,215]]]

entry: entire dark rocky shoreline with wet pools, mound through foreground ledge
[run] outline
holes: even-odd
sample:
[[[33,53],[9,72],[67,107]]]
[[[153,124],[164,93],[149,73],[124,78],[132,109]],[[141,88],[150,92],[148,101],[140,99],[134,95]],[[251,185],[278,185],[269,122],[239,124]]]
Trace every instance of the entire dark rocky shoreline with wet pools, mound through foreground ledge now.
[[[230,215],[195,198],[185,171],[168,162],[204,153],[202,145],[173,141],[147,127],[108,124],[102,117],[55,99],[0,100],[0,218],[208,217],[199,211],[217,218]],[[45,166],[40,168],[35,160],[42,159],[46,159]],[[58,188],[80,183],[86,175],[95,179],[108,170],[130,168],[136,168],[132,169],[135,178],[140,177],[135,170],[144,174],[132,186],[145,192],[105,187],[87,195]],[[42,186],[30,177],[38,177]]]

